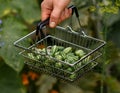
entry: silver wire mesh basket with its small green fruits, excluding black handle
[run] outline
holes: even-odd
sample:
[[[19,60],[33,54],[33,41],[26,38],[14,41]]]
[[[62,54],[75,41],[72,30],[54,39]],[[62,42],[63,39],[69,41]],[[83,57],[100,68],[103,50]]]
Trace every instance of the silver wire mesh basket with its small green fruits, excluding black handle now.
[[[14,42],[32,70],[73,82],[98,64],[105,41],[70,27],[47,29],[45,23],[40,28]]]

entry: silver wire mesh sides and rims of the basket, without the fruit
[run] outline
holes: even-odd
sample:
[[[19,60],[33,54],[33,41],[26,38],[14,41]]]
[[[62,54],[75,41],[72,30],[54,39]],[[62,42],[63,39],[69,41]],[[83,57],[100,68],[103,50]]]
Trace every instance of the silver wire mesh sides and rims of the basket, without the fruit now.
[[[72,32],[59,26],[57,26],[55,29],[50,29],[50,31],[47,29],[47,31],[44,32],[43,30],[46,36],[44,38],[39,37],[37,42],[34,40],[35,32],[36,31],[31,32],[14,43],[15,46],[22,49],[22,52],[19,54],[26,58],[25,63],[33,70],[37,70],[38,72],[44,71],[49,75],[53,75],[70,82],[80,78],[84,73],[91,70],[98,64],[98,58],[101,57],[102,48],[105,45],[103,40],[99,40],[87,35],[80,35],[79,32]],[[44,45],[46,48],[45,54],[36,53],[32,50],[32,48],[39,45]],[[72,47],[73,49],[82,49],[86,52],[86,55],[84,55],[78,61],[70,64],[65,61],[57,60],[48,54],[47,48],[53,45]],[[46,64],[44,62],[45,60],[30,58],[27,55],[28,53],[41,55],[42,58],[48,59],[52,61],[52,63]],[[62,67],[55,67],[56,62],[60,62]],[[83,65],[81,66],[81,64]],[[68,71],[65,69],[65,67],[70,67],[74,70]]]

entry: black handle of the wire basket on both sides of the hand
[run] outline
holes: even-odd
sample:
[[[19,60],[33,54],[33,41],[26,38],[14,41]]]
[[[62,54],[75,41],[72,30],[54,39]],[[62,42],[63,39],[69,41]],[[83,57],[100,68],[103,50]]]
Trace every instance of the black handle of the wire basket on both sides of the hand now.
[[[78,23],[79,23],[79,25],[81,27],[80,20],[79,20],[79,13],[78,13],[77,8],[74,5],[71,5],[71,6],[68,7],[68,9],[70,9],[70,8],[72,9],[72,15],[75,13],[75,15],[76,15],[76,17],[78,19]],[[50,20],[50,18],[47,18],[46,20],[41,21],[41,22],[38,23],[37,28],[36,28],[36,36],[39,35],[39,31],[40,31],[40,34],[43,37],[45,37],[45,35],[44,35],[43,31],[42,31],[42,28],[49,24],[49,20]]]

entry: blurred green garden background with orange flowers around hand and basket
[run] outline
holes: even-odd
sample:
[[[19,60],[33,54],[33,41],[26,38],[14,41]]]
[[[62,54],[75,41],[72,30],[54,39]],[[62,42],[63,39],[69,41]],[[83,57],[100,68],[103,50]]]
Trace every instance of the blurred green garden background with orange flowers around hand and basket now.
[[[0,93],[120,93],[120,0],[71,2],[87,35],[107,42],[103,61],[80,78],[77,87],[30,71],[13,45],[35,29],[41,2],[0,0]],[[78,29],[75,20],[70,24]]]

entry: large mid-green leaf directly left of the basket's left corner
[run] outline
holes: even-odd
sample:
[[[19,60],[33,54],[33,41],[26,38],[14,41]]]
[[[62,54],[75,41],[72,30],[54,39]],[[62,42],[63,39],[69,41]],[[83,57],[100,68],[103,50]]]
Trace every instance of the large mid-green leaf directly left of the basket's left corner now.
[[[9,16],[3,19],[2,40],[5,43],[0,49],[0,56],[14,70],[19,72],[24,60],[18,55],[18,49],[13,45],[14,41],[26,35],[26,26],[16,16]]]

